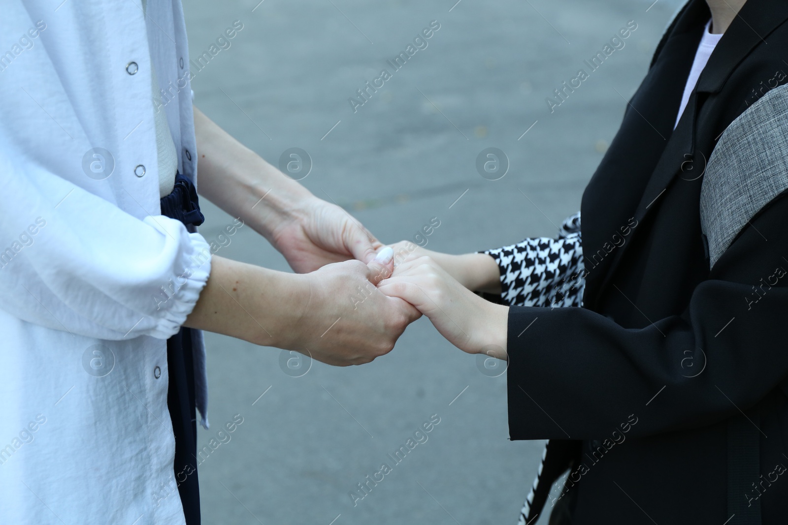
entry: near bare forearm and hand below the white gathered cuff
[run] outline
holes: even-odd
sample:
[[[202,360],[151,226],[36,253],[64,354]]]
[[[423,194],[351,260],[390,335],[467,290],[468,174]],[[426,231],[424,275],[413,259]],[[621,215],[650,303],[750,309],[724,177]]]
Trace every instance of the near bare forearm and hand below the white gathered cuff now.
[[[184,326],[296,350],[336,366],[368,363],[388,353],[422,315],[374,286],[392,271],[390,250],[379,255],[370,264],[344,261],[308,274],[214,255],[208,283]]]

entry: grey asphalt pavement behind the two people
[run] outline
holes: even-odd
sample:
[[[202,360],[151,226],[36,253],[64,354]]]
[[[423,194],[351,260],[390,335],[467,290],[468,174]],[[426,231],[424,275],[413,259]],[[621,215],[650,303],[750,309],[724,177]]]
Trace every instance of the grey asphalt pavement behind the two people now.
[[[275,165],[288,148],[306,150],[302,183],[383,242],[412,239],[436,216],[427,247],[450,253],[555,235],[678,2],[455,2],[185,2],[192,58],[243,24],[228,49],[191,66],[195,104]],[[394,71],[387,59],[432,20],[440,29],[426,49]],[[545,98],[589,72],[583,61],[629,20],[637,29],[623,49],[551,113]],[[348,98],[383,68],[392,78],[354,113]],[[507,155],[502,179],[477,172],[487,147]],[[203,209],[206,238],[232,222]],[[225,257],[289,271],[251,228],[231,240]],[[216,448],[199,465],[203,523],[516,523],[543,442],[508,441],[505,375],[483,375],[428,320],[371,364],[314,362],[301,377],[283,372],[278,349],[206,342],[212,427],[198,441]],[[236,414],[243,423],[217,436]],[[428,441],[394,464],[387,454],[433,414]],[[392,472],[354,506],[348,493],[383,463]]]

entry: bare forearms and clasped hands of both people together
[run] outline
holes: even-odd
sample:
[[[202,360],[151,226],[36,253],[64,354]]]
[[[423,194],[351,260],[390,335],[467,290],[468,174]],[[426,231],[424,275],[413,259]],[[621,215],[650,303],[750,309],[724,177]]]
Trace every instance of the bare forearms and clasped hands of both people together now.
[[[201,197],[266,237],[297,273],[214,255],[184,326],[346,366],[391,351],[423,314],[459,349],[506,358],[508,309],[474,294],[500,291],[492,257],[410,242],[387,250],[196,108],[195,134]]]

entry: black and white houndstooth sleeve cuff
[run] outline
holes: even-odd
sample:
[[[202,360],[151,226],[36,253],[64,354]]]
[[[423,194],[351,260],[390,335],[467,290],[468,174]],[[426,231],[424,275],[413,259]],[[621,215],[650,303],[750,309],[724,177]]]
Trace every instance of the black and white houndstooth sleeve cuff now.
[[[563,221],[558,238],[526,238],[482,253],[498,264],[505,305],[582,305],[585,280],[580,212]]]

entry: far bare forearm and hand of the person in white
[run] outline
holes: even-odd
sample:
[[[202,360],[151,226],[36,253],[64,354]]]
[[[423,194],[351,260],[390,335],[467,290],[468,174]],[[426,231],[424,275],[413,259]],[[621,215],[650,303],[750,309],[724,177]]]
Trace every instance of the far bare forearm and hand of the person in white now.
[[[197,108],[194,118],[199,194],[266,237],[296,272],[372,260],[382,245],[358,220],[315,197]]]

